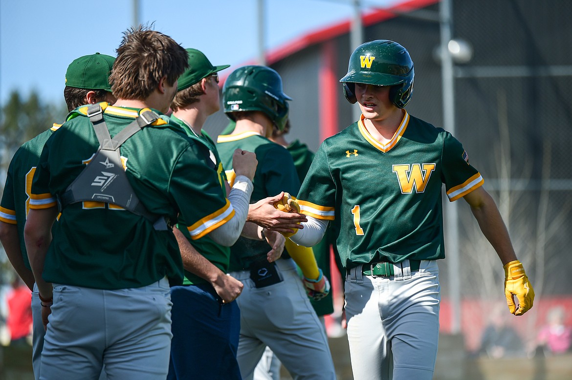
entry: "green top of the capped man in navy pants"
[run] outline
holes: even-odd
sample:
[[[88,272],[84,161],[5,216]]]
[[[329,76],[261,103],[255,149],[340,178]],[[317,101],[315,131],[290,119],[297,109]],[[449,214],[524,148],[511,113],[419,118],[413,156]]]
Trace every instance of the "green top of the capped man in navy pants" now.
[[[216,150],[215,143],[212,141],[212,139],[210,139],[209,135],[205,131],[202,131],[202,134],[197,135],[190,128],[190,126],[181,119],[178,119],[174,116],[171,116],[171,119],[177,123],[190,138],[197,138],[202,143],[204,143],[204,164],[216,172],[216,176],[219,178],[220,185],[223,189],[223,194],[226,195],[227,189],[224,184],[227,181],[227,177],[224,173],[223,165],[220,162],[219,152]],[[185,237],[190,241],[190,243],[193,245],[193,247],[196,248],[198,252],[200,252],[206,259],[208,259],[208,261],[213,263],[220,270],[224,271],[224,273],[227,273],[229,261],[231,259],[230,247],[225,247],[217,244],[208,235],[193,240],[190,237],[189,231],[185,228],[184,223],[181,223],[181,226],[177,225],[177,227],[182,231]],[[206,282],[207,281],[205,279],[202,279],[197,275],[194,275],[185,270],[185,279],[183,281],[183,285],[193,285]]]

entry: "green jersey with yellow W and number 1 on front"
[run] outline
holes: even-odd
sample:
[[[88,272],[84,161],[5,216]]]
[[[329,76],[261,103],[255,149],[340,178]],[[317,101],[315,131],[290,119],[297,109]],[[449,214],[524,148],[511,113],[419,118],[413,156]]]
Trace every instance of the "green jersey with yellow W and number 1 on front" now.
[[[450,201],[483,184],[447,131],[404,112],[377,141],[360,121],[325,139],[301,186],[304,214],[332,221],[341,265],[445,256],[442,184]]]

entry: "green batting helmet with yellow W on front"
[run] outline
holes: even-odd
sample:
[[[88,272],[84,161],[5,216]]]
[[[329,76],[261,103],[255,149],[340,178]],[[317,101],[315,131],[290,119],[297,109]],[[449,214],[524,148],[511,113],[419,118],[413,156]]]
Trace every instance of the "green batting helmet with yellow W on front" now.
[[[407,50],[397,42],[376,39],[363,43],[349,57],[348,73],[340,79],[344,95],[350,103],[358,101],[355,83],[391,86],[390,100],[403,108],[413,93],[413,61]]]

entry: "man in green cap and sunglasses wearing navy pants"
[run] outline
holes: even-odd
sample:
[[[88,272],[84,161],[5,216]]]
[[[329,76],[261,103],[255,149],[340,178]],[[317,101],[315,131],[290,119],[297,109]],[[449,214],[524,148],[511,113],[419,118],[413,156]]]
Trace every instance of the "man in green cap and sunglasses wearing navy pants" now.
[[[220,109],[217,73],[229,65],[213,66],[201,51],[186,51],[189,69],[178,80],[171,118],[189,138],[202,143],[204,165],[217,173],[225,194],[228,184],[219,153],[202,125],[209,115]],[[231,196],[229,199],[235,206],[235,200]],[[267,207],[277,211],[271,203],[278,200],[273,198],[266,203]],[[248,202],[243,206],[248,207]],[[291,214],[285,217],[291,217]],[[249,235],[251,238],[261,239],[262,230],[262,227],[252,226],[243,233],[253,232]],[[193,238],[184,222],[180,222],[174,232],[182,253],[185,279],[182,286],[170,289],[173,339],[167,378],[241,379],[236,361],[240,311],[235,298],[240,295],[243,284],[226,275],[230,244],[221,245],[210,235]],[[272,246],[268,255],[274,261],[280,257],[284,237],[267,229],[264,229],[264,236]],[[236,237],[235,234],[233,241]]]

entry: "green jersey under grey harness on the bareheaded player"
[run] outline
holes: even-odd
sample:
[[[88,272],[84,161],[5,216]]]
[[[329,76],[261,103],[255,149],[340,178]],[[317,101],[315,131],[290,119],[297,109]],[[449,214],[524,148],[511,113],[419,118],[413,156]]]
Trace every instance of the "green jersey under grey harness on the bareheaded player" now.
[[[142,111],[102,106],[112,136]],[[34,174],[30,208],[55,206],[57,197],[94,157],[99,143],[86,110],[85,106],[74,110],[46,142]],[[204,144],[188,138],[164,116],[120,147],[128,181],[142,204],[171,221],[180,217],[192,239],[203,237],[235,214],[219,179],[204,165],[203,149]],[[100,163],[105,170],[106,162]],[[165,276],[171,283],[181,283],[183,278],[172,231],[155,230],[148,219],[112,203],[78,202],[62,210],[58,233],[46,255],[46,281],[127,289]]]

